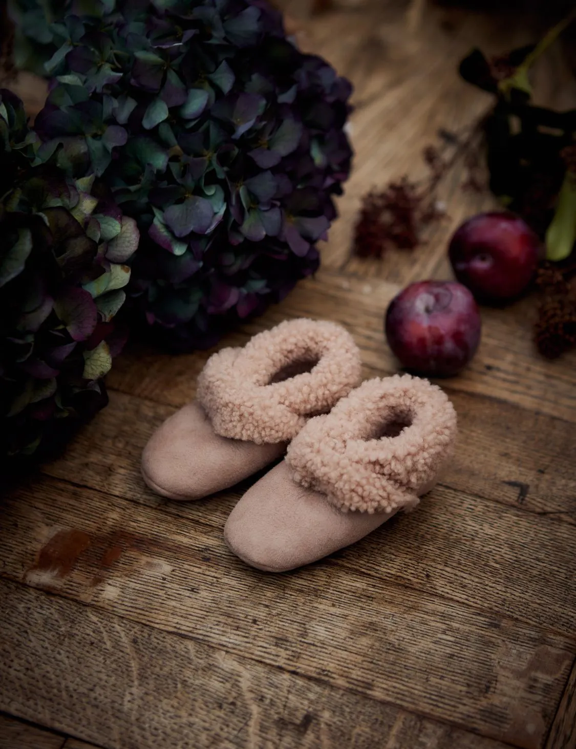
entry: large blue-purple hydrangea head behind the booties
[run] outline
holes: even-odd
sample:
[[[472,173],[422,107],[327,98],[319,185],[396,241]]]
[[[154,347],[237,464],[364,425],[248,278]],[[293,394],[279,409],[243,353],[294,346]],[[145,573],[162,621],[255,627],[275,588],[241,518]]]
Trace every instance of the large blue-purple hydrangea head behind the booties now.
[[[163,342],[214,342],[318,267],[348,177],[351,85],[259,0],[112,0],[67,15],[36,127],[104,175],[142,243],[130,295]]]

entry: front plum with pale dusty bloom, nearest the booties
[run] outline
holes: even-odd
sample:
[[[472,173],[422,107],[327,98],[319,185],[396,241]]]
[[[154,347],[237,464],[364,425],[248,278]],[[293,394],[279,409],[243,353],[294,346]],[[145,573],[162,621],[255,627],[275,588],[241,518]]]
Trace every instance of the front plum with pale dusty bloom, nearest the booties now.
[[[476,353],[482,321],[468,289],[455,281],[420,281],[392,299],[386,339],[404,369],[426,377],[456,375]]]

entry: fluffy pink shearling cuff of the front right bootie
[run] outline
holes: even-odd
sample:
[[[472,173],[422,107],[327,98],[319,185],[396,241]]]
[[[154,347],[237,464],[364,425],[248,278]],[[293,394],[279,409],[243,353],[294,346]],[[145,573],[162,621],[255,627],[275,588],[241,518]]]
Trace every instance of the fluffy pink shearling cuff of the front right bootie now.
[[[327,416],[311,419],[286,461],[295,482],[326,494],[342,512],[389,513],[418,504],[455,436],[446,394],[428,380],[394,375],[368,380]]]

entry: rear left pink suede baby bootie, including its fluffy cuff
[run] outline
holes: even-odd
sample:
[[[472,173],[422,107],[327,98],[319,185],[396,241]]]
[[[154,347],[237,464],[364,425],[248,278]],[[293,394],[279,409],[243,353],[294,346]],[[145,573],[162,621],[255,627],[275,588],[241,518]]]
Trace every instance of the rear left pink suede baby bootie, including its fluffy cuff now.
[[[145,482],[164,497],[194,500],[246,479],[347,395],[360,367],[350,333],[326,321],[285,321],[243,348],[222,349],[199,375],[195,401],[145,447]]]

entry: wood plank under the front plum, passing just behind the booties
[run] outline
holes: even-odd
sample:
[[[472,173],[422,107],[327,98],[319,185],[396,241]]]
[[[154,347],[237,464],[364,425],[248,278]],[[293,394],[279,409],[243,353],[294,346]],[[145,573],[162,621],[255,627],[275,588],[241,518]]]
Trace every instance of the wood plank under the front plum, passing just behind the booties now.
[[[398,370],[384,339],[384,314],[399,287],[378,279],[343,278],[318,273],[290,297],[291,316],[329,317],[353,333],[372,375]],[[261,324],[273,324],[282,305]],[[576,420],[576,352],[550,362],[533,344],[533,302],[522,300],[506,311],[482,308],[482,342],[470,366],[446,380],[451,389],[501,398],[537,412]],[[279,318],[278,318],[279,319]]]

